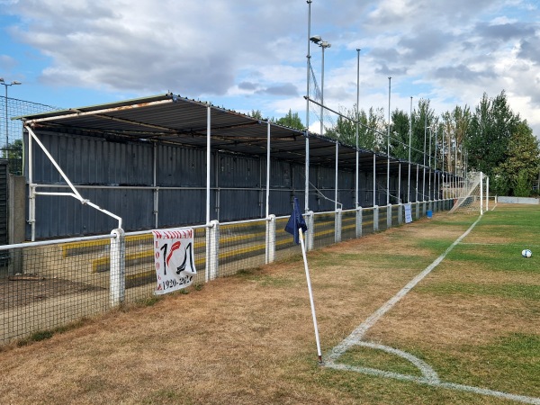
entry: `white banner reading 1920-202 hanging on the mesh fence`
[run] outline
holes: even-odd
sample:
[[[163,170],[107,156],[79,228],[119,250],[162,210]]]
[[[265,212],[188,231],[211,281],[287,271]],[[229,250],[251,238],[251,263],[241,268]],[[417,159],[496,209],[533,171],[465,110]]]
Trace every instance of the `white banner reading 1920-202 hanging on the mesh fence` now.
[[[154,293],[172,293],[191,285],[197,274],[193,257],[193,229],[154,229],[152,234],[157,277]]]

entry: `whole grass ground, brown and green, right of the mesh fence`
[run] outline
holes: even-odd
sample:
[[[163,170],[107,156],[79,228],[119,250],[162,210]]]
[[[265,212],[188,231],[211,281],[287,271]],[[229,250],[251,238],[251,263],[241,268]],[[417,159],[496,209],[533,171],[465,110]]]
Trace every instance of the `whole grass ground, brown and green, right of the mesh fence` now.
[[[435,213],[310,252],[323,357],[478,217]],[[447,383],[540,403],[538,206],[499,205],[365,341]],[[523,248],[533,257],[521,257]],[[318,365],[302,256],[86,320],[0,352],[2,403],[510,404],[503,397]],[[343,365],[419,377],[353,347]]]

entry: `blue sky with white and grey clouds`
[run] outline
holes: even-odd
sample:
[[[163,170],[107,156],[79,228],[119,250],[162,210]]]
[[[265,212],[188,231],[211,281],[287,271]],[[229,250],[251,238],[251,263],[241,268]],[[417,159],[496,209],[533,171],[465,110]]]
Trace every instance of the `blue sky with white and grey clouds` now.
[[[410,112],[412,97],[440,115],[504,90],[540,137],[539,10],[538,0],[0,0],[0,76],[23,82],[9,97],[60,108],[172,92],[305,123],[308,52],[322,82],[311,33],[331,44],[330,109],[353,109],[358,92],[365,110]]]

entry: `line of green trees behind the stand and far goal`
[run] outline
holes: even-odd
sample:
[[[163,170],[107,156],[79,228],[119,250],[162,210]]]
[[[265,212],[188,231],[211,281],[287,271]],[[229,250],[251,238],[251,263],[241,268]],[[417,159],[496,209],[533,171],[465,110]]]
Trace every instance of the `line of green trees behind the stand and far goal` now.
[[[250,115],[262,119],[259,111]],[[268,121],[305,130],[291,110]],[[410,112],[392,111],[390,130],[388,125],[383,108],[356,112],[355,105],[340,109],[337,121],[325,125],[325,136],[448,173],[482,171],[490,176],[491,194],[538,195],[539,142],[527,120],[511,110],[504,91],[492,98],[484,93],[473,110],[456,105],[441,115],[429,99],[420,99]]]

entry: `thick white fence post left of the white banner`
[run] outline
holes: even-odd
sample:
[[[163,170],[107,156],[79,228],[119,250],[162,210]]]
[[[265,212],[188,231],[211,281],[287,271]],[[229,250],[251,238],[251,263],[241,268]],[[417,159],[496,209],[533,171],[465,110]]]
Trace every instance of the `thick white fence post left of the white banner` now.
[[[124,301],[126,293],[126,244],[123,229],[111,231],[110,302],[115,307]]]

